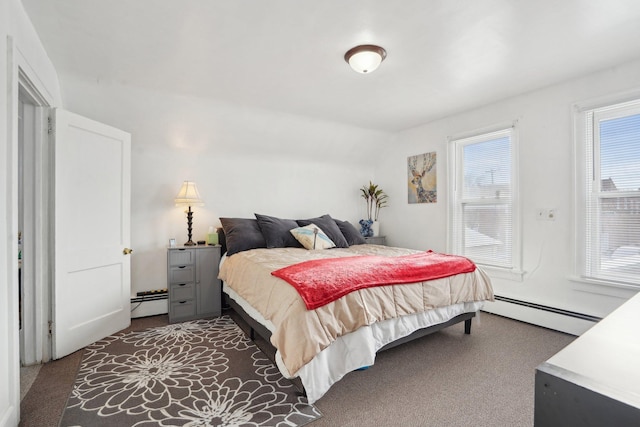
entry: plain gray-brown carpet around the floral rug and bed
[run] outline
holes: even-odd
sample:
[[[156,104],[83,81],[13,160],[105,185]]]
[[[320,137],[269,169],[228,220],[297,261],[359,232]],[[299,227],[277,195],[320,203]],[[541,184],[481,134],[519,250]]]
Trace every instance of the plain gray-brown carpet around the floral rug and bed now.
[[[226,313],[245,331],[232,310]],[[124,332],[166,326],[166,315],[133,319]],[[480,313],[471,335],[455,325],[379,354],[352,372],[315,406],[322,418],[308,427],[533,425],[534,374],[540,363],[575,337]],[[270,358],[262,339],[257,345]],[[46,363],[21,404],[21,427],[56,427],[83,350]]]

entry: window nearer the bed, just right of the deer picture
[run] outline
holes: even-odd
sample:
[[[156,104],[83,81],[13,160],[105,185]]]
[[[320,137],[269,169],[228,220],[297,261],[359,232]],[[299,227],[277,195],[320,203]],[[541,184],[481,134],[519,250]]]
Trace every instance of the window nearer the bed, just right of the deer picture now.
[[[450,250],[483,266],[519,270],[515,128],[450,142]]]

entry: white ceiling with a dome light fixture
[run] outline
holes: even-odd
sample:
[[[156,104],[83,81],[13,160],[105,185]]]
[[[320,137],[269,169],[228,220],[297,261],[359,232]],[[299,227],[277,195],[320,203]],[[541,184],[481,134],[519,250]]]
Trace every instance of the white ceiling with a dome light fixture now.
[[[22,0],[65,79],[398,131],[640,58],[639,0]],[[373,74],[343,55],[378,44]]]

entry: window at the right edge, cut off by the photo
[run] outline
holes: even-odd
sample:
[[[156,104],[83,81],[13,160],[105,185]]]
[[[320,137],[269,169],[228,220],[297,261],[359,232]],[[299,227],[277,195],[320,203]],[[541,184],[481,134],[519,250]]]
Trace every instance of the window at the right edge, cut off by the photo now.
[[[578,111],[578,269],[640,285],[640,100]]]

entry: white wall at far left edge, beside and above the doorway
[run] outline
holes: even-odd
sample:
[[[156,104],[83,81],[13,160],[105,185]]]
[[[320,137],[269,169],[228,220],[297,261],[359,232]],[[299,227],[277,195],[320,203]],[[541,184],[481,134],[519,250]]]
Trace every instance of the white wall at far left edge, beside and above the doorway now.
[[[38,40],[22,3],[0,1],[0,426],[18,424],[17,106],[18,67],[52,100],[60,103],[55,69]]]

